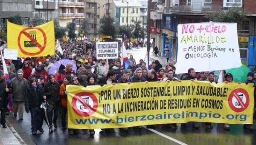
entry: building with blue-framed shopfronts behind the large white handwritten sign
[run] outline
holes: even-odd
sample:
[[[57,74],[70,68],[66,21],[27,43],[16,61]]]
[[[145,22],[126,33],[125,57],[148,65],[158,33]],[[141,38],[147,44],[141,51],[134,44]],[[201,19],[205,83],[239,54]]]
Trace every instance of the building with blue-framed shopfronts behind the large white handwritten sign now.
[[[256,62],[256,3],[251,0],[162,0],[164,13],[160,14],[154,20],[154,26],[157,27],[157,33],[154,34],[154,45],[159,46],[162,54],[165,47],[171,51],[170,58],[177,60],[177,25],[182,23],[201,23],[208,22],[204,17],[205,13],[229,9],[236,5],[241,7],[248,15],[247,20],[242,21],[241,27],[238,27],[238,39],[241,62],[244,65],[255,65]],[[159,15],[158,9],[151,11],[152,14]]]

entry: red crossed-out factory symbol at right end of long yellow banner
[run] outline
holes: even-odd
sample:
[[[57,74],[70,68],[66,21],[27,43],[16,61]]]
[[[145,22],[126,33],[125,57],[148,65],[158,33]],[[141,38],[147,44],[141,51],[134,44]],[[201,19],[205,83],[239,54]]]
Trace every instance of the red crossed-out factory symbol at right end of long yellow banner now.
[[[243,88],[233,90],[228,98],[230,108],[235,112],[244,111],[249,105],[249,94]]]

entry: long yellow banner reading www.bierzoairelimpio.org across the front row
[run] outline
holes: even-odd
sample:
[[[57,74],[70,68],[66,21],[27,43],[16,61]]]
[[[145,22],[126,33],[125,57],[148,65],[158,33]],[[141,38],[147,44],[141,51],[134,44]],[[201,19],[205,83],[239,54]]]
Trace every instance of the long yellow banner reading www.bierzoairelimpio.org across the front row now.
[[[67,85],[68,128],[216,122],[253,123],[253,84],[205,81]]]

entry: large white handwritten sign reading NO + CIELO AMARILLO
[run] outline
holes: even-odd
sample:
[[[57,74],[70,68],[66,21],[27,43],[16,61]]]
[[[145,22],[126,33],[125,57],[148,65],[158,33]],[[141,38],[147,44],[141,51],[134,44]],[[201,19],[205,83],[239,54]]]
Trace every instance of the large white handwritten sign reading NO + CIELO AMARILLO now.
[[[176,74],[215,71],[241,66],[236,23],[178,25]]]

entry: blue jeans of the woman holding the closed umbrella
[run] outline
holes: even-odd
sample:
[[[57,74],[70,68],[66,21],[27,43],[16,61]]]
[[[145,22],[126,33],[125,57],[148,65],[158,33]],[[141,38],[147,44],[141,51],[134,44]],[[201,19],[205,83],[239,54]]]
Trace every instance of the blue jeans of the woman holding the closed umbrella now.
[[[43,125],[43,117],[41,114],[38,113],[37,107],[30,108],[30,114],[31,114],[31,130],[37,131],[42,128]]]

